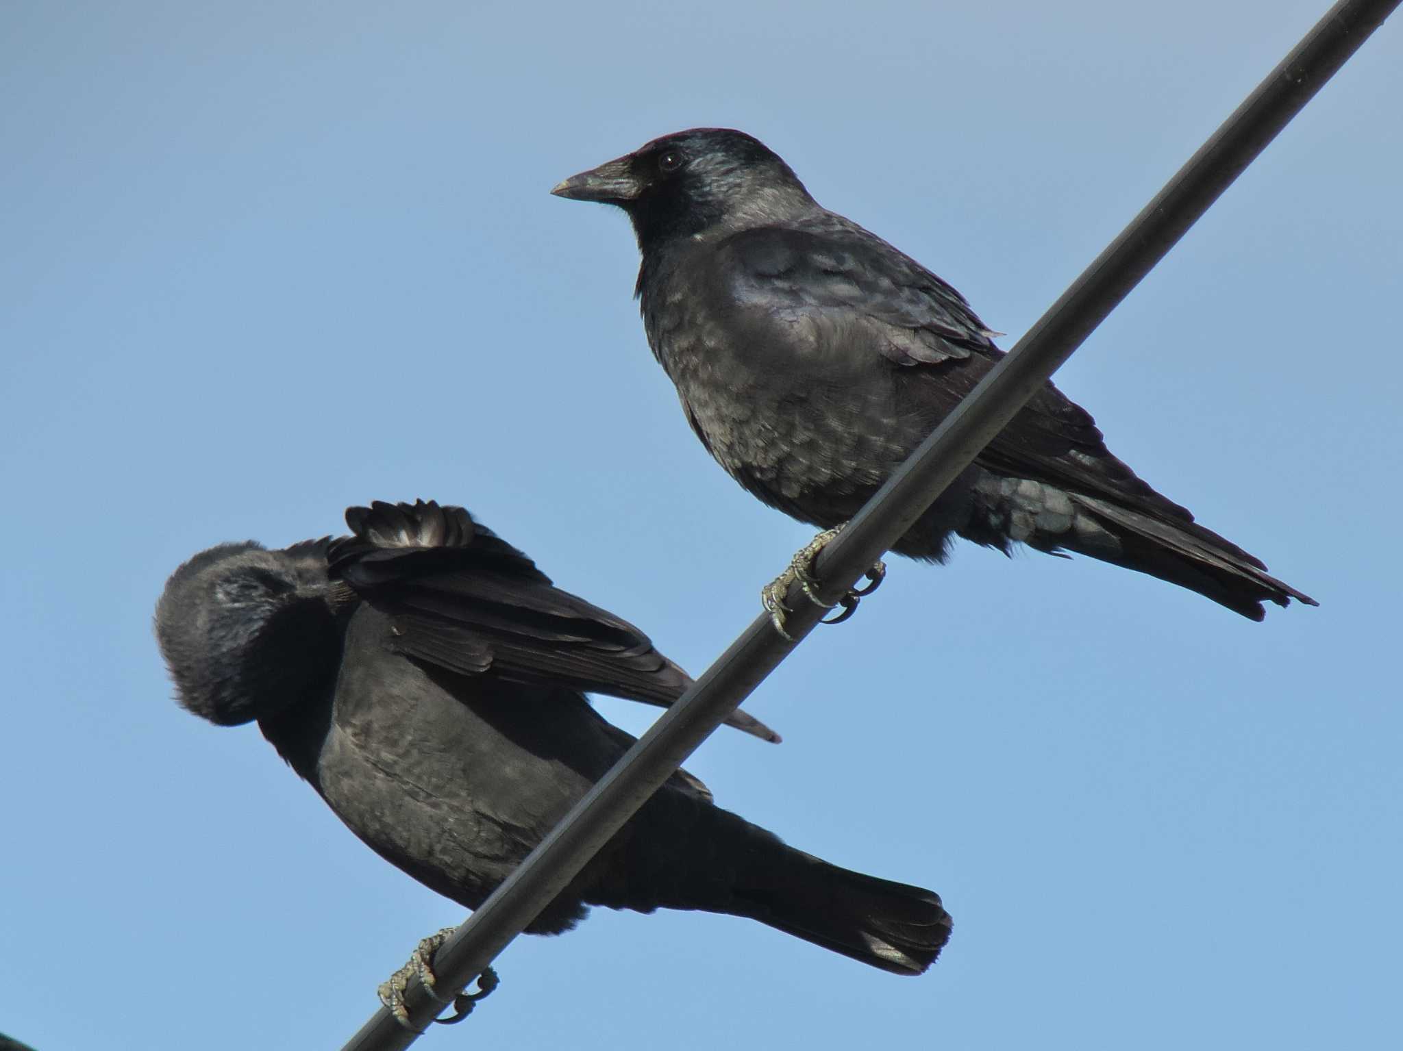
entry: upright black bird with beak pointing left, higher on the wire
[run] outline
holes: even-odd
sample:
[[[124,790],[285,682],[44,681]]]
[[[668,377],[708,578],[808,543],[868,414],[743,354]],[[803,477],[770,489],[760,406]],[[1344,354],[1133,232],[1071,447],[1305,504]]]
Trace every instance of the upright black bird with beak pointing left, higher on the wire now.
[[[801,521],[847,521],[1003,356],[958,291],[742,132],[655,139],[553,192],[629,214],[648,343],[692,429]],[[1089,555],[1254,621],[1263,600],[1316,604],[1142,482],[1051,383],[895,551],[943,562],[953,535]]]

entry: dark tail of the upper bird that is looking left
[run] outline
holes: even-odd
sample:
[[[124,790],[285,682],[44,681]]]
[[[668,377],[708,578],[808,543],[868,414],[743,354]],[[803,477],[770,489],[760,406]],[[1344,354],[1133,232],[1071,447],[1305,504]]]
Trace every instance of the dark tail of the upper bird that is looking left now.
[[[1094,524],[1078,521],[1058,537],[1059,547],[1187,587],[1253,621],[1266,617],[1264,601],[1288,605],[1292,598],[1319,605],[1289,584],[1267,575],[1246,551],[1194,521],[1166,521],[1093,496],[1069,493]]]

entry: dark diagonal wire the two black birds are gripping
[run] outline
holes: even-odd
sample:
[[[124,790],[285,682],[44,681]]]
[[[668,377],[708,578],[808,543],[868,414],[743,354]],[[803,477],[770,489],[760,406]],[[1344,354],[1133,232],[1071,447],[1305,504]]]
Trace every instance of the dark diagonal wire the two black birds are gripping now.
[[[817,576],[825,601],[836,601],[920,517],[1400,1],[1341,0],[1330,8],[824,549]],[[797,584],[786,605],[794,642],[759,615],[443,944],[434,960],[441,991],[473,981],[824,614]],[[405,1006],[424,1027],[442,1005],[415,981]],[[417,1036],[382,1008],[342,1051],[398,1051]]]

